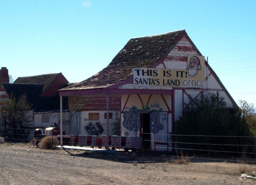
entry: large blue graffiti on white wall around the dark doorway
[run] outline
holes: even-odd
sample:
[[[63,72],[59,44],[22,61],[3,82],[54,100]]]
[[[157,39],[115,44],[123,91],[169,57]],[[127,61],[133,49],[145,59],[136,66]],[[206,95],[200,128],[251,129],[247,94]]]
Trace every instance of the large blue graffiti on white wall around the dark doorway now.
[[[158,104],[156,104],[158,105]],[[148,112],[150,113],[150,130],[157,134],[159,130],[163,130],[163,124],[161,123],[161,111],[163,109],[159,110],[151,110],[150,107],[147,107],[146,109],[140,110],[137,109],[135,106],[133,106],[128,111],[125,111],[123,117],[123,126],[128,129],[129,131],[138,132],[140,130],[140,113]],[[166,120],[167,121],[167,120]]]

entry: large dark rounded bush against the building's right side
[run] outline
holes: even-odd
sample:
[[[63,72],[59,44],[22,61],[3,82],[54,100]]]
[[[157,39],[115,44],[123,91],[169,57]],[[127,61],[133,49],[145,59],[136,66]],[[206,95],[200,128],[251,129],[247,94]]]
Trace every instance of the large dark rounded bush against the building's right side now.
[[[241,110],[228,107],[223,97],[213,93],[202,93],[197,99],[189,97],[174,131],[178,147],[201,152],[242,151],[253,136]]]

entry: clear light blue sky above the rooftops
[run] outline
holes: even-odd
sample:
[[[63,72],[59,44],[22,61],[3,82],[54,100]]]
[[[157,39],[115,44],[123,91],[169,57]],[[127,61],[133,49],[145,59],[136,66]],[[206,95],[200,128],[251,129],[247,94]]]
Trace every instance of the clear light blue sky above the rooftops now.
[[[235,101],[256,107],[255,0],[0,0],[0,67],[80,82],[130,38],[185,29]]]

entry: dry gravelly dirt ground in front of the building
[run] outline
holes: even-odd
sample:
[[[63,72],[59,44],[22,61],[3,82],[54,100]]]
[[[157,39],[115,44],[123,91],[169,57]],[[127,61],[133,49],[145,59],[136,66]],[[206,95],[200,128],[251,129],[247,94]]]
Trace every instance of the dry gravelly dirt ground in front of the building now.
[[[160,152],[89,153],[5,142],[0,144],[0,184],[256,184],[256,179],[240,178],[233,159],[176,160]],[[247,169],[256,171],[256,165]]]

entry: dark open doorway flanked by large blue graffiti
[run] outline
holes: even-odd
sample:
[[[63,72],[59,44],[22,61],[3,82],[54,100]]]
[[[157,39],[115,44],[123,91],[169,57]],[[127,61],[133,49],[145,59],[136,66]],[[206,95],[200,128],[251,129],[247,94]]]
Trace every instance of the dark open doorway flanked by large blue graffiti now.
[[[140,125],[142,131],[142,147],[150,148],[150,113],[140,114]]]

